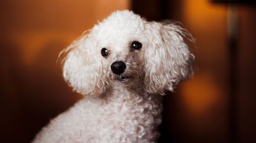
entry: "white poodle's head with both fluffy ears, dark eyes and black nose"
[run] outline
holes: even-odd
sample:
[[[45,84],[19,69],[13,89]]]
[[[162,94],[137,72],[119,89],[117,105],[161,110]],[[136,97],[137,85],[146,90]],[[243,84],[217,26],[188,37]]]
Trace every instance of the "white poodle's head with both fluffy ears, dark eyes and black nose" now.
[[[193,75],[194,55],[170,22],[148,22],[130,11],[117,11],[71,44],[63,65],[66,81],[83,95],[98,96],[113,82],[143,80],[150,94],[173,91]]]

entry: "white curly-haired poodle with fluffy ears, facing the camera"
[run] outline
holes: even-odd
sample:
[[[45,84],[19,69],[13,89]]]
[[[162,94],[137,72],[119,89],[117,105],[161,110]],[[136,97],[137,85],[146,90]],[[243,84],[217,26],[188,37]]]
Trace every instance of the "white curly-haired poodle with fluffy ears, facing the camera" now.
[[[63,76],[86,96],[33,142],[157,142],[162,96],[194,73],[177,23],[116,11],[63,52]]]

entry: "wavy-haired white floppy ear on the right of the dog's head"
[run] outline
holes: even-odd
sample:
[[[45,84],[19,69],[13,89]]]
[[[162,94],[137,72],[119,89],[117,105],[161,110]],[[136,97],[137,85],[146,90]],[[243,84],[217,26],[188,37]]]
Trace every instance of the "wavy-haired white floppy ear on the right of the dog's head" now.
[[[145,85],[148,93],[164,95],[194,74],[195,56],[182,36],[193,37],[172,22],[146,22],[148,43],[144,52]]]

